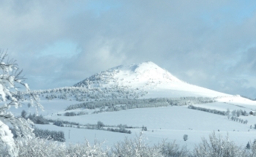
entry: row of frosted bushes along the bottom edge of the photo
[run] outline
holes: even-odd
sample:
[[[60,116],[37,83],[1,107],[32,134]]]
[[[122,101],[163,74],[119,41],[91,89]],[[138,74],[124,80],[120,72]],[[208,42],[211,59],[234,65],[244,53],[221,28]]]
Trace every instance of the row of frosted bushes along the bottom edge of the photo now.
[[[238,147],[232,142],[215,133],[209,135],[209,140],[202,139],[199,145],[191,152],[186,146],[179,148],[175,142],[165,142],[149,146],[140,133],[135,139],[124,139],[113,145],[111,150],[102,149],[102,144],[94,142],[90,145],[86,140],[84,144],[65,145],[61,142],[48,141],[47,139],[29,139],[15,141],[19,148],[19,157],[44,156],[94,156],[94,157],[255,157],[256,140],[248,142],[246,147]],[[0,147],[0,156],[6,157],[7,150]]]

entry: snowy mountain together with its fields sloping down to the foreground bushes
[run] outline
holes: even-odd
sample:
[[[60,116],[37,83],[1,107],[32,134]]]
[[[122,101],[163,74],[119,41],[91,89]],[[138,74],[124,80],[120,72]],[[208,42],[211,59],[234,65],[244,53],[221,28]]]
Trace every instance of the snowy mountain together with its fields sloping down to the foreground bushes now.
[[[253,140],[256,132],[256,114],[249,114],[255,112],[256,101],[190,85],[150,61],[116,66],[72,87],[31,92],[40,97],[45,111],[39,110],[39,115],[47,119],[80,124],[95,124],[100,120],[110,126],[147,126],[148,131],[144,131],[144,134],[152,144],[168,138],[193,148],[200,142],[200,137],[206,137],[212,131],[218,131],[223,136],[228,131],[230,139],[246,145]],[[29,102],[26,92],[13,94],[24,104]],[[189,105],[200,107],[201,110],[192,110]],[[227,108],[230,112],[227,112]],[[11,108],[16,116],[22,110],[26,110],[28,115],[36,112],[30,105]],[[241,115],[236,117],[233,114],[235,111],[236,115],[238,112]],[[83,114],[77,114],[81,112]],[[244,112],[246,114],[242,115]],[[74,116],[67,113],[74,113]],[[241,123],[241,120],[246,123]],[[38,124],[37,127],[64,131],[67,142],[83,142],[86,137],[90,142],[95,138],[107,139],[108,145],[124,137],[136,137],[141,131],[134,128],[130,129],[132,134],[121,134],[81,129],[76,125],[58,127]],[[184,134],[189,135],[187,142],[182,139]]]

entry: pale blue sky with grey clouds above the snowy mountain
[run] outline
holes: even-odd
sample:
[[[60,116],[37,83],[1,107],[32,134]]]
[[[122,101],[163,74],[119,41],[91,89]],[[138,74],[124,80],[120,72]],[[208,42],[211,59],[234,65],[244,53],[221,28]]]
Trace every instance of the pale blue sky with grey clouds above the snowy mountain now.
[[[187,83],[256,98],[256,1],[0,0],[0,48],[31,89],[153,61]]]

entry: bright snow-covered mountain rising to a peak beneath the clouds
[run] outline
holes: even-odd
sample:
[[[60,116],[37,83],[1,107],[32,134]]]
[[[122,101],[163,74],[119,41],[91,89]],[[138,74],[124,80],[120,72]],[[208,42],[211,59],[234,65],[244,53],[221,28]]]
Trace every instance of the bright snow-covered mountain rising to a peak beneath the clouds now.
[[[143,98],[227,96],[225,93],[185,83],[151,61],[129,66],[116,66],[94,74],[74,86],[88,89],[125,88],[127,90],[137,90],[142,91]]]

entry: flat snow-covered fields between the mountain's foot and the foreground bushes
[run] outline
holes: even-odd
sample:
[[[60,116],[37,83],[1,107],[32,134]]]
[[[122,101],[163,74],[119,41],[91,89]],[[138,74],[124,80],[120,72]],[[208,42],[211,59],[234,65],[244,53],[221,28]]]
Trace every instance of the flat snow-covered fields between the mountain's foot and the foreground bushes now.
[[[256,118],[254,116],[240,116],[239,118],[249,121],[247,124],[242,124],[228,120],[227,116],[191,110],[188,109],[187,106],[141,108],[67,117],[57,115],[57,113],[64,112],[64,109],[68,105],[78,102],[43,100],[41,103],[45,107],[45,111],[39,111],[39,114],[44,115],[45,118],[69,120],[81,124],[95,124],[100,120],[107,125],[118,125],[121,123],[127,124],[127,126],[146,126],[148,131],[143,131],[143,134],[144,137],[147,138],[146,142],[149,142],[151,145],[161,142],[162,139],[166,139],[167,142],[176,140],[180,145],[187,145],[187,148],[193,148],[201,141],[201,137],[208,138],[208,135],[213,131],[217,134],[222,134],[223,137],[228,133],[231,140],[237,142],[239,145],[246,145],[249,140],[253,141],[255,139],[256,133],[256,129],[253,129],[254,124],[256,123]],[[242,104],[240,103],[240,105]],[[244,105],[255,107],[252,104]],[[227,110],[227,108],[229,108],[230,111],[242,109],[249,112],[248,108],[241,108],[224,102],[197,104],[195,106],[224,111]],[[21,110],[27,110],[34,113],[34,109],[29,108],[26,105],[23,105],[22,108],[12,109],[12,112],[15,112],[15,115],[19,115]],[[76,111],[80,110],[83,109],[77,109]],[[252,129],[250,129],[251,125]],[[97,139],[99,141],[106,141],[105,147],[112,146],[114,143],[124,140],[125,137],[135,138],[141,131],[140,129],[130,129],[132,134],[123,134],[110,131],[77,129],[53,125],[37,125],[37,127],[41,129],[64,131],[67,143],[84,142],[85,138],[88,139],[89,142],[94,142],[94,139]],[[184,134],[189,135],[189,139],[186,142],[182,139]]]

